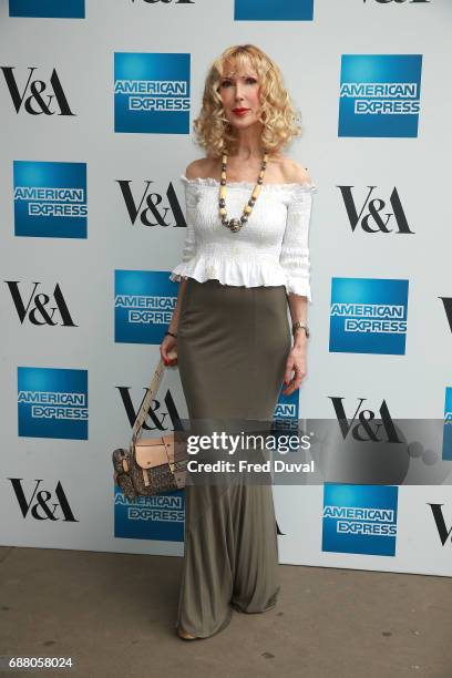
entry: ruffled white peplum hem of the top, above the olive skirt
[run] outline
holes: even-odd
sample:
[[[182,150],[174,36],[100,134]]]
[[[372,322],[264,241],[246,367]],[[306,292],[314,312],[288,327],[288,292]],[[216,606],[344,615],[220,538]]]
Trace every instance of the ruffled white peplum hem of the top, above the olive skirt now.
[[[287,294],[300,295],[311,301],[309,282],[296,280],[280,265],[268,261],[242,261],[215,259],[207,261],[203,257],[189,259],[173,268],[170,280],[179,282],[182,278],[195,278],[198,282],[216,279],[222,285],[245,287],[284,285]]]

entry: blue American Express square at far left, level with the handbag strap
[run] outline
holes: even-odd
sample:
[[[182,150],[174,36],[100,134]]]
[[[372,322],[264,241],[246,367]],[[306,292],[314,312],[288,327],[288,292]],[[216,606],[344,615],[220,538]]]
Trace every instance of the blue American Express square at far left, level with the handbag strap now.
[[[18,367],[19,435],[88,440],[88,370]]]

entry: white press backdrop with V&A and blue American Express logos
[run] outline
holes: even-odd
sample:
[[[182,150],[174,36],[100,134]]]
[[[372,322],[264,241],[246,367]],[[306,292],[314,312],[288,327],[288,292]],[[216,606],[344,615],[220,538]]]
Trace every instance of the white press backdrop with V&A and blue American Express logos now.
[[[207,69],[254,43],[318,188],[308,374],[275,417],[346,419],[369,444],[372,417],[383,438],[397,419],[444,424],[383,483],[360,484],[358,460],[352,479],[276,485],[280,562],[450,576],[450,2],[1,0],[0,21],[1,543],[183,554],[183,492],[129,503],[111,453],[174,308]],[[144,434],[175,414],[173,368]]]

